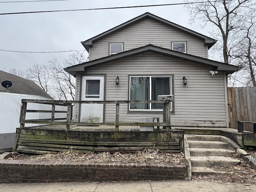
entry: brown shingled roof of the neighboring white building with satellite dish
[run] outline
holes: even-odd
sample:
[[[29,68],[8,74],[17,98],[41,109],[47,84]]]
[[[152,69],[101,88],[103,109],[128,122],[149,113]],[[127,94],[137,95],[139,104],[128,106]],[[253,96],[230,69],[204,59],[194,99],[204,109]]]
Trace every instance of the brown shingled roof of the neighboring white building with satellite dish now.
[[[28,80],[4,71],[0,71],[0,83],[3,81],[12,82],[12,86],[6,90],[2,85],[0,85],[0,92],[6,93],[17,93],[26,95],[37,95],[53,99],[48,93],[46,93],[40,86],[38,86],[34,81]]]

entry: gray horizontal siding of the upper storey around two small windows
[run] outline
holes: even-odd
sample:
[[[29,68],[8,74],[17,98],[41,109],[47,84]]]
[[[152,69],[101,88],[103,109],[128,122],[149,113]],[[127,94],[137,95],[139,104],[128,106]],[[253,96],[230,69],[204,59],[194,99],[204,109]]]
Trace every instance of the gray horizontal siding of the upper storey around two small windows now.
[[[207,46],[203,40],[166,26],[151,19],[144,19],[93,43],[90,61],[108,56],[110,42],[123,42],[124,51],[152,44],[171,48],[172,41],[186,41],[188,54],[207,58]]]

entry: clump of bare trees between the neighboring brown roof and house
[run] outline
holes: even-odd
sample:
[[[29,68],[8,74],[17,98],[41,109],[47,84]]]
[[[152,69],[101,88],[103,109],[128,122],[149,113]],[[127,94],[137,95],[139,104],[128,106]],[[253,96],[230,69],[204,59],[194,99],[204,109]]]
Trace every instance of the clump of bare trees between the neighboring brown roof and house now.
[[[48,65],[35,64],[27,70],[12,68],[10,73],[23,78],[33,80],[45,92],[56,100],[75,99],[75,78],[64,71],[63,67],[86,62],[83,54],[74,52],[68,59],[63,61],[63,66],[58,60],[50,60]]]

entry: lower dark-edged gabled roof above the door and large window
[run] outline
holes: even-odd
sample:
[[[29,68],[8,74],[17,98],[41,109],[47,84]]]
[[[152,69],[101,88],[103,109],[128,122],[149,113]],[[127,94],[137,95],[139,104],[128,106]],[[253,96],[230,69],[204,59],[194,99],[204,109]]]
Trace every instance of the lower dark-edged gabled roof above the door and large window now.
[[[132,49],[129,51],[99,58],[89,62],[84,62],[74,66],[70,66],[68,68],[64,68],[64,70],[75,76],[76,72],[86,72],[86,69],[88,68],[100,66],[103,64],[107,64],[110,62],[118,61],[121,59],[129,58],[129,57],[147,53],[147,52],[160,54],[160,55],[168,56],[171,58],[176,58],[178,60],[183,60],[183,61],[191,62],[194,64],[200,64],[202,66],[208,66],[208,67],[214,68],[215,71],[226,72],[226,74],[231,74],[241,69],[238,66],[234,66],[234,65],[230,65],[230,64],[226,64],[226,63],[222,63],[222,62],[218,62],[218,61],[214,61],[214,60],[210,60],[210,59],[206,59],[206,58],[202,58],[202,57],[198,57],[198,56],[194,56],[186,53],[181,53],[181,52],[177,52],[177,51],[173,51],[170,49],[161,48],[161,47],[149,44],[140,48]]]

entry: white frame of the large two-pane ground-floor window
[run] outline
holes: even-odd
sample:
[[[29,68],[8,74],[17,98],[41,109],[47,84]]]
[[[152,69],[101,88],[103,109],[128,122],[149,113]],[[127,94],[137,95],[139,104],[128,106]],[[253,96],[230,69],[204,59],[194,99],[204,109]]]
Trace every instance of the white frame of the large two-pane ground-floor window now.
[[[152,97],[152,77],[154,77],[154,78],[164,78],[164,77],[167,77],[167,78],[169,78],[169,80],[170,80],[170,82],[169,82],[169,84],[170,84],[170,94],[172,95],[173,94],[173,92],[172,92],[172,85],[173,85],[173,76],[171,76],[171,75],[166,75],[166,76],[160,76],[160,75],[156,75],[156,76],[154,76],[154,75],[146,75],[146,76],[143,76],[143,75],[131,75],[130,77],[129,77],[129,100],[131,100],[131,78],[132,77],[149,77],[150,78],[150,84],[149,84],[149,87],[150,87],[150,94],[149,94],[149,100],[151,101],[152,99],[151,99],[151,97]],[[171,108],[171,112],[172,112],[172,102],[171,102],[171,104],[170,104],[170,108]],[[150,107],[149,107],[149,109],[131,109],[131,107],[130,107],[130,104],[129,104],[129,111],[163,111],[163,109],[152,109],[151,108],[151,103],[150,103]]]

